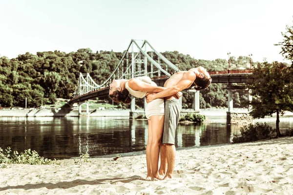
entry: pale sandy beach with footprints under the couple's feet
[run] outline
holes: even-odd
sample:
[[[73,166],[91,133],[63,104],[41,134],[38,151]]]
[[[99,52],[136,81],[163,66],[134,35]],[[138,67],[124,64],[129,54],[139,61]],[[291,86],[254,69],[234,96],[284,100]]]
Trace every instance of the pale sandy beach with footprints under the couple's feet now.
[[[293,195],[293,137],[178,149],[170,180],[143,179],[143,152],[114,157],[7,165],[0,195]]]

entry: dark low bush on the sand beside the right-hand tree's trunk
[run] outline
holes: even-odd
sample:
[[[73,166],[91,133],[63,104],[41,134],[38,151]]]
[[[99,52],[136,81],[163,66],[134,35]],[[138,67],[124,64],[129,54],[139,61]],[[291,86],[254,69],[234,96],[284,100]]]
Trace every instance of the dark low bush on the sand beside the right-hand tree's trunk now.
[[[240,135],[234,135],[232,142],[233,143],[242,143],[257,141],[261,139],[271,139],[274,137],[275,129],[272,129],[271,126],[266,123],[256,123],[245,125],[240,130]]]

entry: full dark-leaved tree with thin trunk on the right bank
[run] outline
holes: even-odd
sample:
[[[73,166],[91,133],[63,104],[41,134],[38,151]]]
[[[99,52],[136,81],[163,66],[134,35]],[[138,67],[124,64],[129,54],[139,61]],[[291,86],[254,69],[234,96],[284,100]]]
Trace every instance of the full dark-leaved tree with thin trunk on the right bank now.
[[[253,69],[254,81],[248,81],[251,90],[252,111],[254,118],[264,118],[276,113],[276,133],[281,136],[279,115],[293,111],[293,68],[277,61],[259,63]]]

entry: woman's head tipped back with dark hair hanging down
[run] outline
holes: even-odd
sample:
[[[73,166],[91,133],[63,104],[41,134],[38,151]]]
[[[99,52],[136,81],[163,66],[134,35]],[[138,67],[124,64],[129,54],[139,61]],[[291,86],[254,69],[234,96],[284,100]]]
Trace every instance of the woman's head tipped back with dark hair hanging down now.
[[[121,80],[114,79],[110,84],[109,97],[115,102],[123,102],[129,104],[131,98],[127,89],[122,89],[120,86]]]

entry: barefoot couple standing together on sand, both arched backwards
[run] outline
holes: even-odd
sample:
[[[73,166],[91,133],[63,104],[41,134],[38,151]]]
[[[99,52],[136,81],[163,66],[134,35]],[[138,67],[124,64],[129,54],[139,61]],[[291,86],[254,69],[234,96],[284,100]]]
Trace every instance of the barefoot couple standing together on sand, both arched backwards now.
[[[147,179],[172,178],[175,166],[175,130],[180,117],[179,97],[182,90],[195,86],[206,89],[211,83],[207,70],[201,66],[180,71],[168,78],[164,87],[157,86],[149,77],[114,79],[109,96],[115,102],[129,104],[132,95],[146,98],[148,139],[146,145]],[[158,168],[161,147],[161,165]]]

